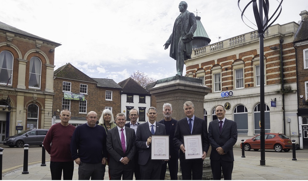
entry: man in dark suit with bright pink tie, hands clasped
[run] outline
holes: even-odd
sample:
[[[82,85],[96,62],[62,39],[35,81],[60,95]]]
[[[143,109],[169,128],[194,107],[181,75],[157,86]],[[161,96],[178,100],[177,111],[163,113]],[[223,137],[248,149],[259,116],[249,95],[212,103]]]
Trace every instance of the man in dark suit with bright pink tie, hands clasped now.
[[[134,173],[135,131],[125,127],[125,115],[119,113],[115,116],[117,127],[107,134],[107,151],[110,155],[109,169],[111,180],[132,180]]]

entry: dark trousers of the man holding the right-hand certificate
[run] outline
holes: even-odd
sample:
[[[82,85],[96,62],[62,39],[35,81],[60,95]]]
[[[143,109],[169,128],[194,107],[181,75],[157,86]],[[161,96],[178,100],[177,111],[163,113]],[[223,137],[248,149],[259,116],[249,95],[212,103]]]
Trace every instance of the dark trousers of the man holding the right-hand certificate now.
[[[202,180],[203,160],[192,159],[180,162],[183,180]]]

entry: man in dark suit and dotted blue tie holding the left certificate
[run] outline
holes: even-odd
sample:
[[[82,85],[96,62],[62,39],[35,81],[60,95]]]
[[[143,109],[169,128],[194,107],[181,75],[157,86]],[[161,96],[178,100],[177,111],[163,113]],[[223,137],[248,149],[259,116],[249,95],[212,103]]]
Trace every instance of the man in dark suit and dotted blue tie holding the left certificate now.
[[[159,180],[163,160],[151,159],[152,135],[166,135],[165,125],[157,123],[157,110],[150,107],[147,113],[149,121],[138,125],[136,146],[139,151],[141,180]]]

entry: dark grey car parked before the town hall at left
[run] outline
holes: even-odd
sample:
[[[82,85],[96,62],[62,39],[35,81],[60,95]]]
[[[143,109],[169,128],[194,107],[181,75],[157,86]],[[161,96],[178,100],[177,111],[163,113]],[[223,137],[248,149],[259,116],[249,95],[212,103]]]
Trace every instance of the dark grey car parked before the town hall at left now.
[[[9,147],[23,147],[24,144],[42,146],[42,142],[47,134],[48,129],[32,129],[22,131],[14,136],[9,136],[3,141],[3,145]]]

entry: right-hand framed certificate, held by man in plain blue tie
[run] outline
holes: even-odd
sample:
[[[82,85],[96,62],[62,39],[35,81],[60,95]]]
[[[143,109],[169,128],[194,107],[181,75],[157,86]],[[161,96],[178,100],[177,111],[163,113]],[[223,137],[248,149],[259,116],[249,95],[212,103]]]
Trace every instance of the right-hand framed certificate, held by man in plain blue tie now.
[[[183,135],[185,147],[185,159],[201,159],[202,158],[202,140],[201,134]]]

